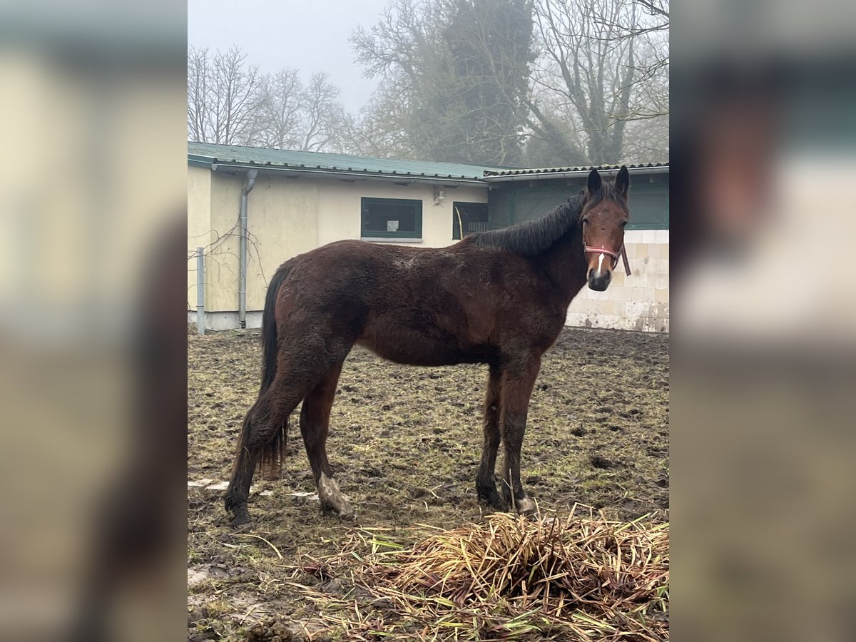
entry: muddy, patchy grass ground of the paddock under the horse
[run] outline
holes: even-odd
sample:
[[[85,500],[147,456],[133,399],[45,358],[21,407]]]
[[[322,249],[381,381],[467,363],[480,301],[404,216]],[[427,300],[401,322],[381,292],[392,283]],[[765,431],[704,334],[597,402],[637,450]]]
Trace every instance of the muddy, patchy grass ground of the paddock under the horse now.
[[[581,502],[610,518],[668,519],[668,348],[663,334],[568,329],[544,355],[522,455],[524,485],[542,510]],[[336,639],[300,586],[346,590],[318,566],[355,530],[383,529],[406,546],[419,525],[482,519],[486,366],[397,366],[354,349],[328,452],[356,520],[320,513],[295,413],[282,479],[254,479],[253,528],[235,532],[223,494],[260,360],[258,331],[187,338],[188,639]]]

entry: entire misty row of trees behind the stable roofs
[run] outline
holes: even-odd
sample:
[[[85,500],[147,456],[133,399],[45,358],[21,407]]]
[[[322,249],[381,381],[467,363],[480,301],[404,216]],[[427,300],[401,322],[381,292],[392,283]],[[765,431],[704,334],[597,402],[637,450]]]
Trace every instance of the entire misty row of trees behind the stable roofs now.
[[[534,28],[533,28],[534,27]],[[669,0],[391,0],[352,43],[358,115],[327,74],[187,55],[189,140],[469,163],[669,155]]]

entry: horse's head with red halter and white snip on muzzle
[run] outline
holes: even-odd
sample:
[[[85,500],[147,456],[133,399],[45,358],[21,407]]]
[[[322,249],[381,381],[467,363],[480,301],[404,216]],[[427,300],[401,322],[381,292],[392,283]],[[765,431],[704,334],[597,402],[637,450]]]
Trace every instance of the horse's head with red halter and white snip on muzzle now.
[[[621,167],[614,183],[601,180],[592,169],[586,186],[586,201],[580,212],[583,245],[586,247],[589,288],[603,292],[612,280],[612,270],[618,265],[624,247],[624,226],[627,225],[627,187],[630,175]]]

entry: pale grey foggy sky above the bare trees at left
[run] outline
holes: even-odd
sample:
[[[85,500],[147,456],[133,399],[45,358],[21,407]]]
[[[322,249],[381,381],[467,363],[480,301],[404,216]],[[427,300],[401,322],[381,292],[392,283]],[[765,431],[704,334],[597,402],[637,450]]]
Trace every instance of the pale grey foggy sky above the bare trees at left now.
[[[318,71],[342,90],[342,104],[355,112],[377,85],[354,62],[348,38],[371,27],[389,0],[187,0],[187,45],[225,51],[238,45],[262,73],[300,69],[306,83]]]

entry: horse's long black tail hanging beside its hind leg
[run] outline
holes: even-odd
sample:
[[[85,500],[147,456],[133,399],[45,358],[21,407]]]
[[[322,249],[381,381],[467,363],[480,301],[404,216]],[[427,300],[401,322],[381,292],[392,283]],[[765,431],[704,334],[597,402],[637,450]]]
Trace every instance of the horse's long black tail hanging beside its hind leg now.
[[[288,277],[291,266],[283,264],[270,279],[265,295],[265,312],[262,312],[262,383],[259,397],[270,388],[276,377],[276,354],[279,352],[279,337],[276,332],[276,295],[282,282]],[[276,479],[282,471],[288,446],[288,417],[276,429],[270,442],[266,443],[259,454],[259,473],[268,479]]]

